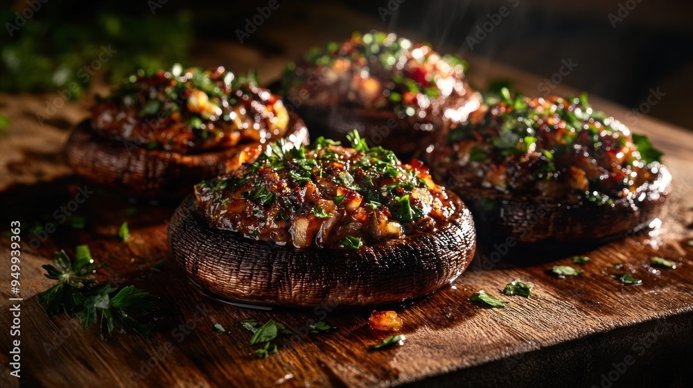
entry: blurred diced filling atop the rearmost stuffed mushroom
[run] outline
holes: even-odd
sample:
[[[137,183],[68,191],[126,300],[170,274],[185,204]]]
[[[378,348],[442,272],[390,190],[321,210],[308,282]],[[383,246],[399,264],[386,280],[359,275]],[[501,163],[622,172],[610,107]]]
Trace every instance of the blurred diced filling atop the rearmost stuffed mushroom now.
[[[473,94],[464,82],[465,67],[459,58],[441,56],[428,44],[392,33],[356,33],[342,44],[313,48],[303,60],[289,64],[285,96],[308,105],[394,109],[402,118],[433,113],[459,121],[468,114],[462,105]],[[449,107],[441,109],[448,99]]]

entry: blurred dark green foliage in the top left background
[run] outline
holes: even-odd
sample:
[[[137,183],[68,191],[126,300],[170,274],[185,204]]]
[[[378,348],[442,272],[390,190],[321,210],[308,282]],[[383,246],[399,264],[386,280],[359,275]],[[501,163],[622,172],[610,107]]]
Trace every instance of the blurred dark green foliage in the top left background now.
[[[146,2],[133,12],[115,1],[53,0],[19,26],[15,12],[21,15],[25,8],[24,1],[0,6],[5,27],[0,33],[0,91],[69,88],[69,98],[75,99],[89,87],[97,67],[114,83],[137,69],[152,71],[188,60],[193,28],[184,10],[152,15]],[[102,54],[108,47],[110,57]]]

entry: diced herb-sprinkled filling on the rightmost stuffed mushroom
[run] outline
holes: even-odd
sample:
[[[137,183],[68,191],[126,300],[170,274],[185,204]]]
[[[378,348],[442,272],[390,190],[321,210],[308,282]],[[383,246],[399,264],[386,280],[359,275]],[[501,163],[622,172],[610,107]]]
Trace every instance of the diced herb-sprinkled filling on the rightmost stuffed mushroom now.
[[[512,98],[502,89],[449,132],[431,160],[449,187],[604,205],[654,179],[660,156],[646,136],[594,112],[585,94]]]

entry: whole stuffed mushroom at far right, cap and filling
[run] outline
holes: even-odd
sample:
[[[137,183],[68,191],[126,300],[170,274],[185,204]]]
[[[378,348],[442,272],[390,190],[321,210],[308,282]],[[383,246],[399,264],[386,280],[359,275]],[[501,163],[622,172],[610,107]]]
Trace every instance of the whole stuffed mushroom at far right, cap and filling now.
[[[578,243],[658,224],[672,190],[660,157],[585,94],[512,98],[502,89],[424,159],[470,206],[480,235]]]

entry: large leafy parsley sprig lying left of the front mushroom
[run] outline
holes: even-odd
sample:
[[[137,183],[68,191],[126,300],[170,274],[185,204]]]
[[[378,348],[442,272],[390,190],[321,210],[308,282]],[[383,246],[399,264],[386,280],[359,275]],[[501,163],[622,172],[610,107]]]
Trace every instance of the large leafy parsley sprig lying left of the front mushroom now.
[[[82,329],[99,326],[102,333],[112,334],[116,328],[128,333],[148,335],[152,325],[142,323],[139,318],[157,309],[156,297],[132,285],[118,288],[98,285],[91,277],[94,260],[89,247],[80,245],[76,249],[76,260],[72,262],[64,251],[56,252],[55,265],[45,264],[45,276],[58,284],[39,294],[39,302],[46,304],[46,315],[64,312],[77,317]]]

